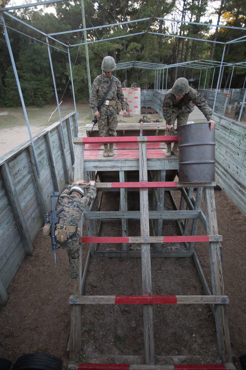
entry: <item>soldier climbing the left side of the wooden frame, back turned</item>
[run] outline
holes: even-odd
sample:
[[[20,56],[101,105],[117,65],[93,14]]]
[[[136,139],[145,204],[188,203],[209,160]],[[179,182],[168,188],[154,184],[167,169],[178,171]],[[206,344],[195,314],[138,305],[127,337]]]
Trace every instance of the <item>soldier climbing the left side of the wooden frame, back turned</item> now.
[[[92,184],[94,183],[95,182],[92,181]],[[82,188],[81,193],[77,191],[74,192],[72,189],[74,186],[76,186],[76,188],[80,188],[78,186],[79,184],[86,184],[86,182],[84,180],[80,180],[68,185],[66,190],[63,191],[59,197],[58,209],[63,207],[63,211],[60,212],[59,215],[60,228],[63,228],[63,225],[77,226],[86,206],[96,198],[97,193],[95,185],[92,185],[91,182],[89,182],[90,189],[86,195],[82,196],[82,194],[84,194]],[[71,189],[73,191],[72,194],[70,194]],[[73,233],[69,233],[69,236],[72,234]],[[74,293],[73,290],[76,289],[79,283],[79,235],[80,230],[76,232],[72,239],[62,245],[62,248],[66,249],[69,259],[70,293]],[[72,289],[72,287],[74,289]]]

